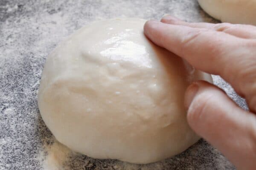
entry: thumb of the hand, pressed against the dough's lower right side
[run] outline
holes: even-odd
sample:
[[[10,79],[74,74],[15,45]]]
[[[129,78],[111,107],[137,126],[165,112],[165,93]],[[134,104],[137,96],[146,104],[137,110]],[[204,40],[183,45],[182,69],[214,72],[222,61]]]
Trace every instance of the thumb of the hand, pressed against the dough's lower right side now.
[[[189,86],[185,105],[189,107],[188,123],[198,135],[217,147],[238,169],[255,168],[254,114],[242,110],[224,91],[204,81]]]

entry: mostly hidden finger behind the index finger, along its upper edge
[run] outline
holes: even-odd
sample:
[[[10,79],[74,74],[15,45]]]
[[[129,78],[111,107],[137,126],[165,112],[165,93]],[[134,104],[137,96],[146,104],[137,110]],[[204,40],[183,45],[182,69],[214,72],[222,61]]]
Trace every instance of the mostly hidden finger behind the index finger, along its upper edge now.
[[[250,25],[241,25],[241,24],[230,24],[230,23],[188,23],[182,20],[179,20],[176,17],[172,17],[171,15],[166,15],[161,19],[162,23],[174,24],[174,25],[182,25],[189,26],[192,28],[207,28],[215,31],[222,31],[227,34],[246,38],[246,39],[256,39],[256,27]]]

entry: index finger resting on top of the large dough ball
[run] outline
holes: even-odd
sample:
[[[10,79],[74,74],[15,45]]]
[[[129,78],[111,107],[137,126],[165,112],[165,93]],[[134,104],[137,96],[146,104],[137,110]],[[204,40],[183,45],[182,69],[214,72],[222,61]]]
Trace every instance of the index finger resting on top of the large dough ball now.
[[[145,23],[144,34],[155,44],[186,59],[198,70],[220,75],[241,96],[256,96],[256,88],[244,88],[250,84],[249,80],[253,83],[256,79],[256,40],[153,20]],[[256,99],[249,105],[254,111],[255,104]]]

